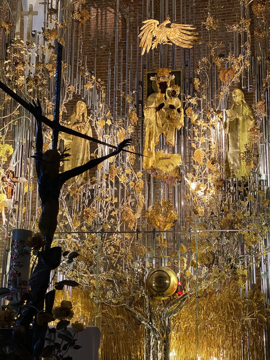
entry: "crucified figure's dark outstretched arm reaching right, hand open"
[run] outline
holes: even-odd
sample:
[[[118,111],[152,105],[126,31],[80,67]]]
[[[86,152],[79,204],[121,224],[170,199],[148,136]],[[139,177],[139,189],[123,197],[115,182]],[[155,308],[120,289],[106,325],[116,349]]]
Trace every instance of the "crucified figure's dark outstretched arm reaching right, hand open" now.
[[[126,140],[122,141],[122,143],[120,143],[112,153],[102,156],[100,158],[92,159],[92,160],[86,162],[84,165],[77,166],[71,170],[67,170],[67,171],[63,172],[62,174],[59,174],[59,185],[62,186],[65,181],[71,179],[72,177],[78,176],[78,175],[82,174],[83,172],[100,164],[104,160],[110,158],[111,156],[119,154],[120,151],[125,146],[129,146],[130,144],[131,144],[131,139],[126,139]]]

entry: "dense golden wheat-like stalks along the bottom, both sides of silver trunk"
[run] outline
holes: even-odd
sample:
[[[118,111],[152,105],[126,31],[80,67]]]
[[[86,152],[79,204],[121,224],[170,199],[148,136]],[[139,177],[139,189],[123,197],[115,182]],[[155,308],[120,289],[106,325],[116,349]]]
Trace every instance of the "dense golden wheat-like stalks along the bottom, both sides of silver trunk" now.
[[[57,291],[55,304],[64,300],[64,291]],[[72,321],[94,325],[95,301],[93,295],[80,288],[67,292],[66,300],[76,303]],[[143,305],[136,305],[143,312]],[[134,319],[123,307],[100,304],[96,324],[101,329],[101,360],[148,360],[144,359],[144,325]],[[171,358],[173,360],[196,359],[196,299],[193,295],[183,309],[171,320]],[[225,282],[217,291],[211,288],[198,299],[198,338],[200,360],[264,359],[264,332],[269,333],[268,310],[264,308],[264,296],[260,284],[253,285],[248,297],[241,299],[235,281]],[[249,338],[247,338],[249,334]],[[249,341],[249,343],[248,343]]]

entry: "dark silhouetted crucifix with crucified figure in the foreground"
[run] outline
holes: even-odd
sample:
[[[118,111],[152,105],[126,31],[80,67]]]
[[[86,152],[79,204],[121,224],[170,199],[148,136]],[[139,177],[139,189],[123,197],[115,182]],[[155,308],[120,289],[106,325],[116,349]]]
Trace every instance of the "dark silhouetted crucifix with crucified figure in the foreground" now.
[[[4,90],[14,100],[21,104],[36,118],[36,154],[33,156],[36,159],[37,183],[39,188],[39,195],[41,199],[41,216],[39,220],[39,230],[44,236],[45,245],[39,252],[37,264],[30,276],[28,284],[30,291],[27,296],[26,305],[23,307],[13,330],[13,348],[15,354],[23,359],[39,360],[48,324],[37,324],[36,315],[38,312],[47,312],[51,314],[54,304],[55,290],[47,293],[51,270],[56,269],[62,256],[61,247],[52,247],[53,236],[57,228],[57,216],[59,211],[59,196],[62,185],[65,181],[74,176],[80,175],[83,172],[95,167],[111,156],[119,154],[124,147],[131,144],[131,139],[122,141],[118,146],[107,144],[104,141],[92,138],[91,136],[81,134],[75,130],[59,124],[59,108],[60,108],[60,90],[61,90],[61,66],[62,66],[62,45],[57,44],[57,61],[56,61],[56,77],[55,77],[55,105],[54,105],[54,119],[50,121],[42,115],[42,108],[39,100],[29,104],[20,96],[15,94],[9,87],[0,81],[0,89]],[[53,130],[52,149],[43,153],[43,135],[42,123],[48,125]],[[102,156],[100,158],[91,159],[84,165],[77,166],[71,170],[59,173],[60,161],[66,160],[69,154],[66,149],[59,153],[58,148],[58,133],[59,131],[67,134],[75,135],[86,140],[91,140],[96,143],[109,146],[114,149],[113,152]],[[80,149],[78,149],[80,151]],[[135,153],[136,154],[136,153]],[[138,154],[140,155],[140,154]],[[44,310],[45,302],[45,310]],[[33,323],[33,332],[28,332],[30,323]],[[25,329],[24,338],[18,338],[18,332]],[[20,330],[19,330],[20,329]],[[31,335],[32,334],[32,335]],[[32,336],[32,341],[26,341],[27,337]],[[29,345],[31,343],[31,345]],[[18,347],[19,346],[19,347]],[[19,350],[18,350],[19,349]]]

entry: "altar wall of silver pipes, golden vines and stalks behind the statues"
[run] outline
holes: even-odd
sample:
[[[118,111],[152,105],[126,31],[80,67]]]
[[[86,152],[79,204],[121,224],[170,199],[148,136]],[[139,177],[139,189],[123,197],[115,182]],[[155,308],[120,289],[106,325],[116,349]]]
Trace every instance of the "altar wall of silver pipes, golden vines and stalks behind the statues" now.
[[[18,2],[11,1],[9,8],[18,10]],[[9,8],[1,8],[1,19],[10,21],[9,31],[0,24],[1,81],[28,100],[42,99],[51,119],[55,47],[62,42],[61,121],[68,124],[83,101],[93,136],[109,143],[131,137],[132,149],[143,153],[146,73],[181,70],[184,126],[175,133],[174,147],[164,135],[156,146],[181,156],[179,179],[172,185],[172,174],[165,174],[167,182],[162,182],[153,176],[160,169],[144,170],[140,156],[122,154],[94,169],[83,183],[65,186],[55,241],[81,255],[72,265],[63,262],[58,280],[76,279],[81,287],[59,292],[58,301],[71,297],[75,307],[80,299],[76,319],[102,329],[104,360],[268,359],[269,1],[53,2],[39,5],[33,18],[38,16],[44,29],[33,27],[37,32],[29,39],[23,16],[15,36],[18,17],[13,20]],[[141,56],[142,21],[161,23],[167,15],[171,22],[194,24],[201,44],[191,49],[158,45]],[[14,37],[21,42],[14,43]],[[222,127],[234,89],[243,91],[256,120],[249,134],[252,151],[243,155],[251,176],[243,179],[225,178]],[[14,185],[9,210],[1,182],[4,284],[10,231],[37,230],[40,204],[30,158],[35,122],[0,96],[0,144],[13,148],[6,161],[0,154],[1,176],[13,165],[15,176],[27,180]],[[46,129],[46,146],[49,139]],[[90,144],[91,157],[108,151]],[[145,216],[160,199],[170,200],[177,213],[166,230],[154,222],[157,213],[152,221]],[[179,293],[165,302],[151,300],[145,288],[149,270],[161,265],[173,269],[181,282]],[[169,317],[166,305],[177,298],[180,303],[184,294],[187,300]]]

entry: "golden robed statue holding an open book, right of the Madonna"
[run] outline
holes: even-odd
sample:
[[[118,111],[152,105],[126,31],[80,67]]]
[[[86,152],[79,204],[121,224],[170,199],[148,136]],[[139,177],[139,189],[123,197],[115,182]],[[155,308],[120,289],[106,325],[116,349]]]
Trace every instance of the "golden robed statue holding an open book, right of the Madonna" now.
[[[242,176],[251,175],[250,166],[242,161],[240,154],[249,149],[248,131],[255,126],[255,118],[243,92],[235,89],[232,95],[233,104],[226,110],[227,117],[223,125],[226,134],[225,175],[227,179],[242,179]]]

